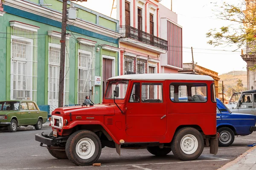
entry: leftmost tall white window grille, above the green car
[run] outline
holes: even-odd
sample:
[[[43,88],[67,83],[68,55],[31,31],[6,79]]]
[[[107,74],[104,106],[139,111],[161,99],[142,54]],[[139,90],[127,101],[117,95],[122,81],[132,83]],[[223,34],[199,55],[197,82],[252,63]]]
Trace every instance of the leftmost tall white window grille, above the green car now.
[[[11,100],[37,101],[37,35],[11,26]]]

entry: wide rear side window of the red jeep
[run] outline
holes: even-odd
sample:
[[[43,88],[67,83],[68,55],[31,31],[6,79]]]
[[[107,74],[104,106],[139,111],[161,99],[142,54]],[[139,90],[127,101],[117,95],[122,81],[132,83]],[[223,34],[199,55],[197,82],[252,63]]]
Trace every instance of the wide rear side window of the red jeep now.
[[[171,83],[170,99],[172,102],[207,102],[207,84]]]

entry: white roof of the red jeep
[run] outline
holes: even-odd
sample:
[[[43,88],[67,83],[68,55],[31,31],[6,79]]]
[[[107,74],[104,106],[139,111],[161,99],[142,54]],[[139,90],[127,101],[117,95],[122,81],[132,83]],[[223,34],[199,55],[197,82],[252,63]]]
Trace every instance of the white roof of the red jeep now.
[[[111,77],[111,79],[132,79],[132,80],[211,80],[210,76],[196,74],[176,74],[176,73],[158,73],[158,74],[129,74]]]

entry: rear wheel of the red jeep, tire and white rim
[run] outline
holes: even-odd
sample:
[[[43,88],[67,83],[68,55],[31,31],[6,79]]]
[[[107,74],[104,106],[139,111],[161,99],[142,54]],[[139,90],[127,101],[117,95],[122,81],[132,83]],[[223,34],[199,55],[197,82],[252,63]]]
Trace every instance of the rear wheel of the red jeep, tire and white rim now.
[[[175,157],[190,161],[197,159],[203,152],[204,139],[195,128],[183,127],[175,133],[171,147]]]

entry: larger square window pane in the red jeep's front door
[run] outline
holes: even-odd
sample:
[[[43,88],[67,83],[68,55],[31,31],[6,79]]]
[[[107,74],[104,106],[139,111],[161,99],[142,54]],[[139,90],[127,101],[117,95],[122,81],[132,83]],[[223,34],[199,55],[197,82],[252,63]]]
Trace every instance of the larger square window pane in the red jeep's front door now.
[[[142,83],[141,102],[144,103],[162,103],[163,85],[162,83]]]

